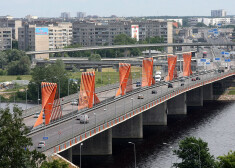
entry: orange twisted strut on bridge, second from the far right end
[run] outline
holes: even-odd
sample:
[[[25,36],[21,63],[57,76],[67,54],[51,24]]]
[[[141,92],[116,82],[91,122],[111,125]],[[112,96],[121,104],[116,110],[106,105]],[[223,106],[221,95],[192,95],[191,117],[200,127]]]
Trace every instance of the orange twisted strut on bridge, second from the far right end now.
[[[168,76],[166,77],[166,80],[171,81],[172,79],[177,77],[177,69],[176,69],[177,56],[168,55],[167,60],[168,60]]]

